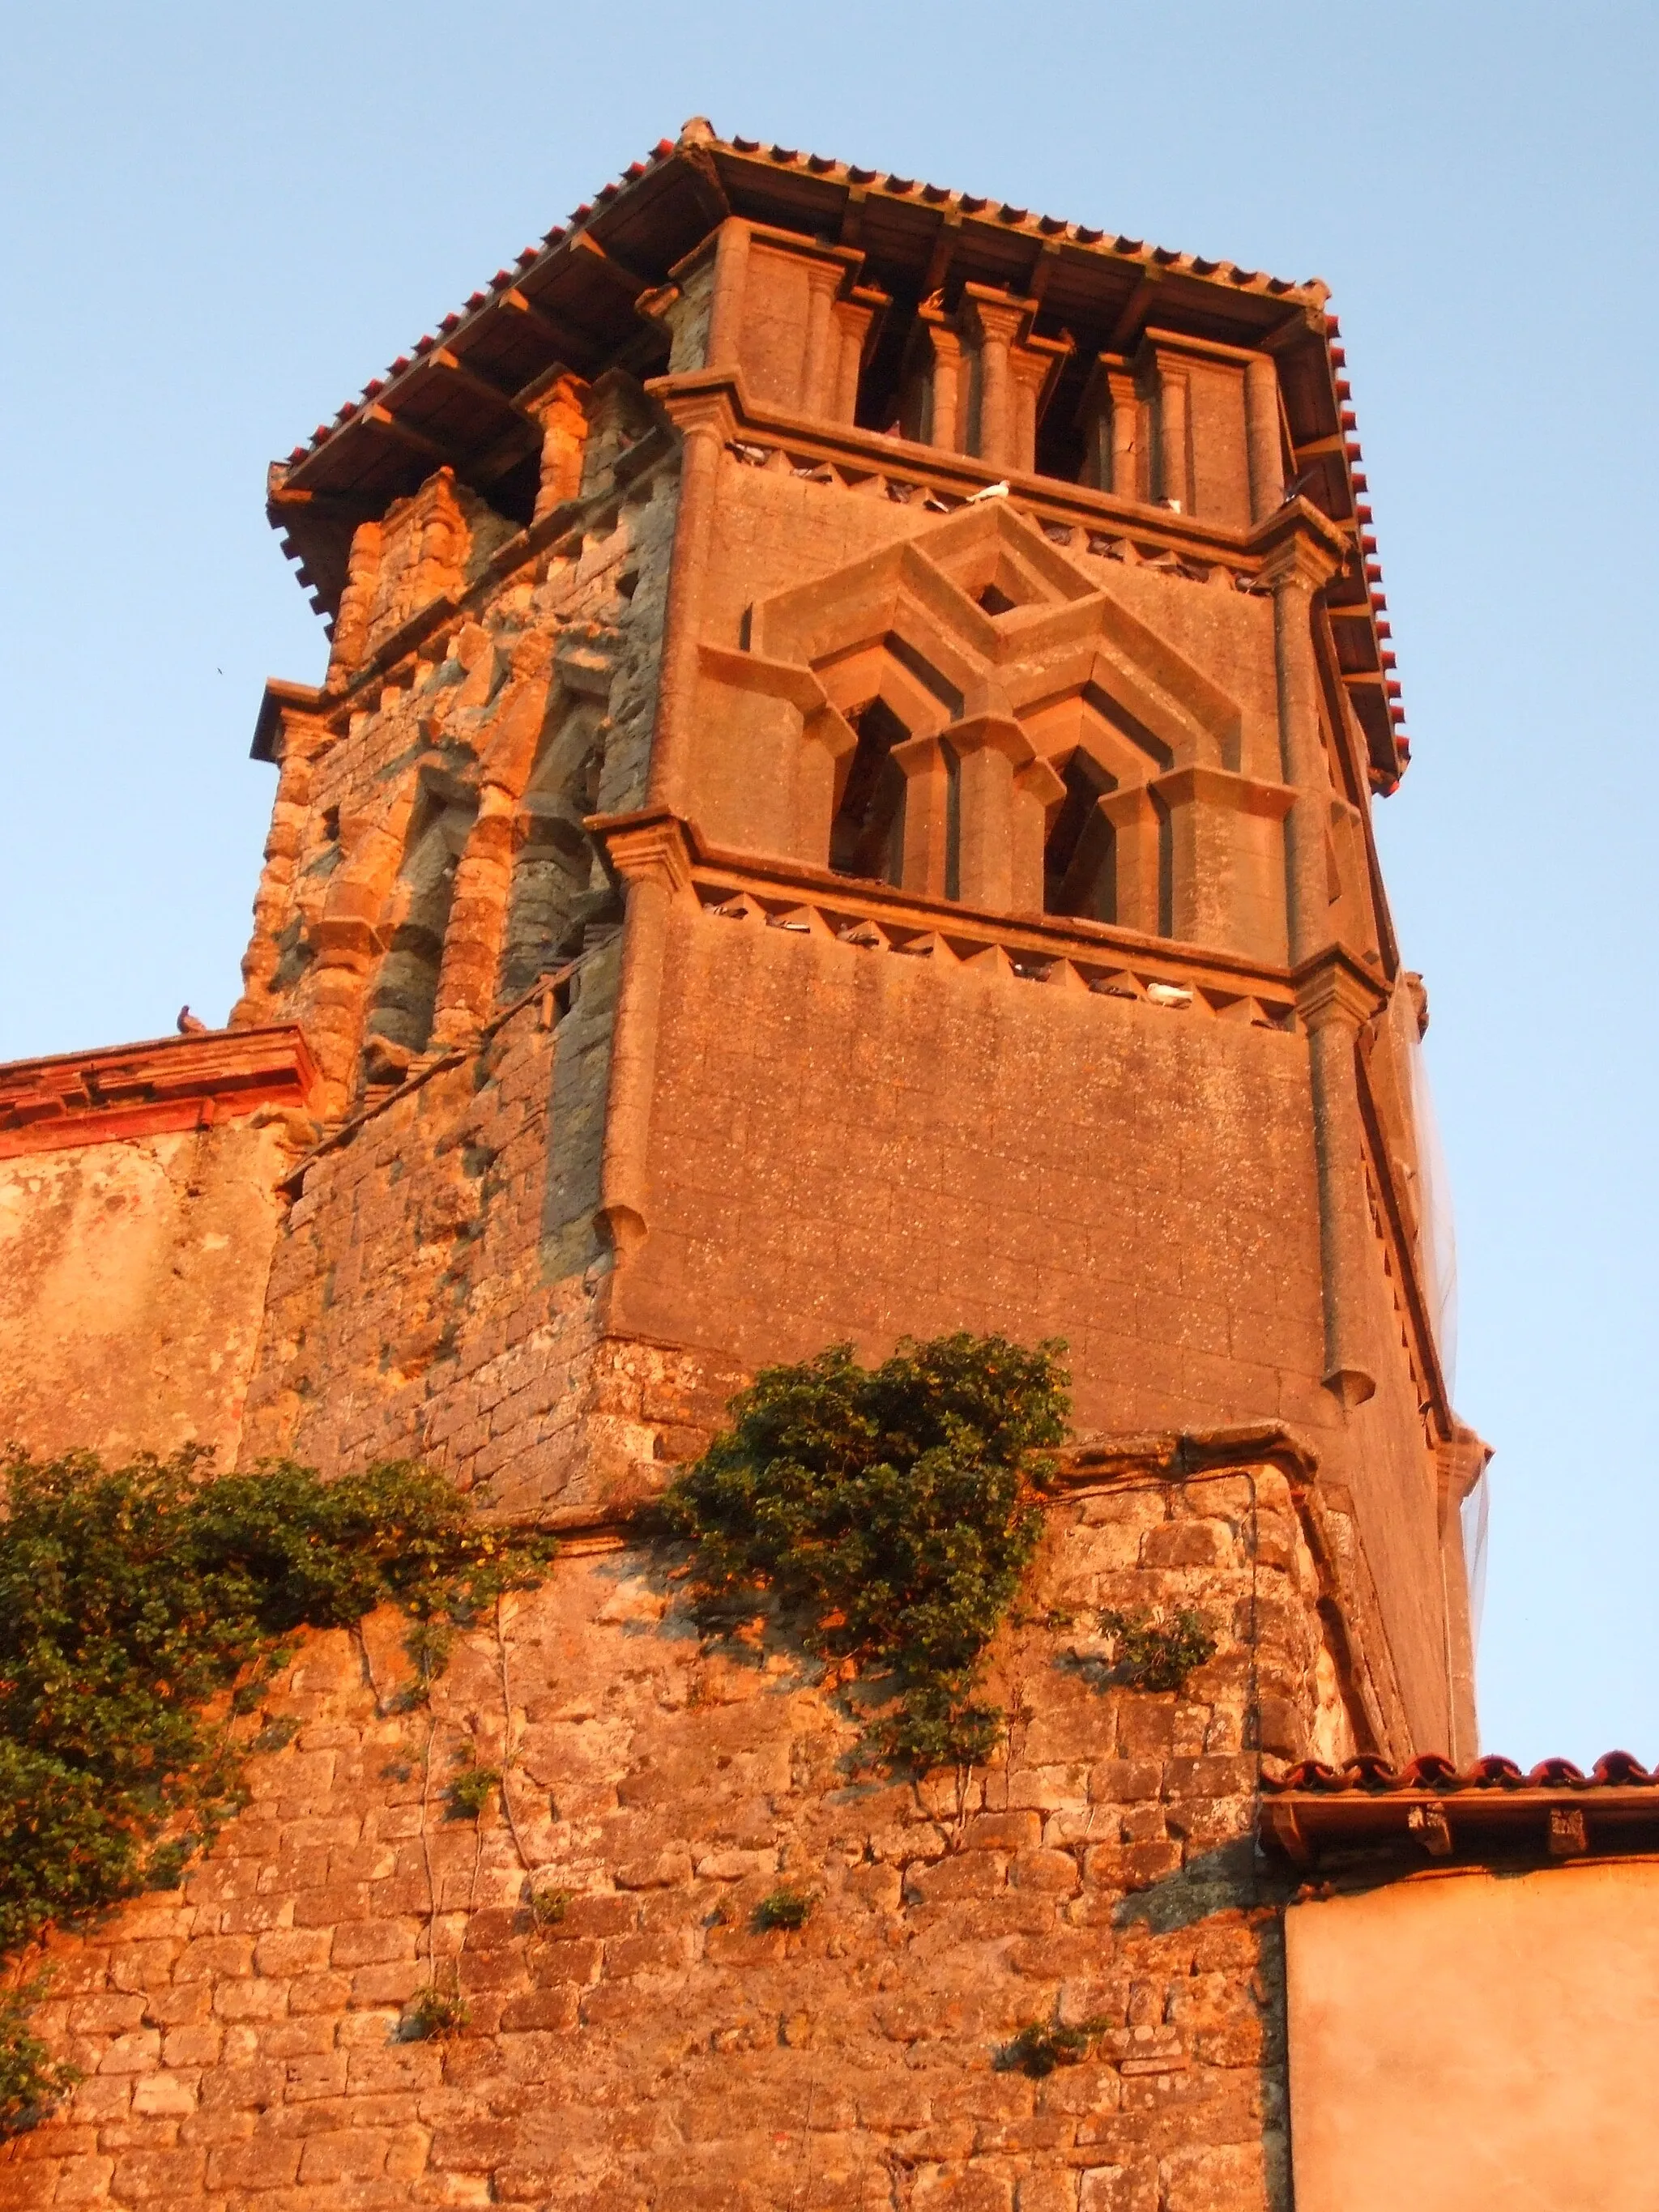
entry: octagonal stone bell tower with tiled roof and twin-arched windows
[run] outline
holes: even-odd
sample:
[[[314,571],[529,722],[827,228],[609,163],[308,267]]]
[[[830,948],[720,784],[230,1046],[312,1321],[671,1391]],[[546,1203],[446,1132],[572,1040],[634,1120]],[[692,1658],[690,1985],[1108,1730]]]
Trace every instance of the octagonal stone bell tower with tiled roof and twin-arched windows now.
[[[1062,1336],[1086,1436],[1294,1444],[1360,1736],[1469,1756],[1343,365],[1316,283],[690,124],[274,467],[243,1455],[580,1524],[765,1363]]]

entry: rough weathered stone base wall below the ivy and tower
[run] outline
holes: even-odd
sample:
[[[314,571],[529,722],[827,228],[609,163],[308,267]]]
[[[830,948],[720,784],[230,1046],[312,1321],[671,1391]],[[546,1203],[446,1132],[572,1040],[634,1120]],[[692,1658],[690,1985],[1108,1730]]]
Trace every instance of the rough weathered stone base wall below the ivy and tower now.
[[[787,1630],[701,1639],[677,1564],[575,1546],[429,1712],[396,1710],[394,1617],[307,1637],[248,1812],[184,1889],[53,1944],[42,2022],[86,2079],[4,2152],[0,2208],[1285,2205],[1254,1739],[1349,1743],[1287,1475],[1057,1498],[991,1670],[1004,1750],[960,1783],[858,1774]],[[1097,1610],[1177,1601],[1217,1657],[1113,1686]],[[511,1823],[445,1818],[467,1756]],[[531,1869],[568,1891],[542,1936]],[[781,1880],[816,1909],[759,1933]],[[434,1973],[471,2022],[405,2039]],[[1031,2022],[1088,2022],[1091,2055],[1033,2079]]]

